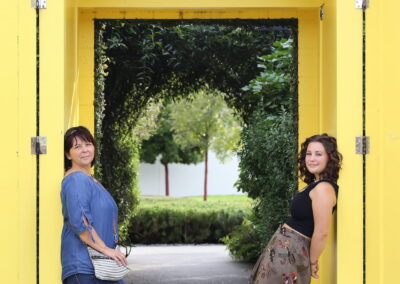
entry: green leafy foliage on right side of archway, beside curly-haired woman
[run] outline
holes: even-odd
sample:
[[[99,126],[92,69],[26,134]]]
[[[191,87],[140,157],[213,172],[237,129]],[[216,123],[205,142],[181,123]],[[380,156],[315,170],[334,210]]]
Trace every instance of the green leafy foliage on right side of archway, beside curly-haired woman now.
[[[275,42],[274,52],[260,57],[262,72],[243,88],[258,97],[259,104],[242,134],[237,187],[258,203],[249,219],[224,238],[237,259],[257,258],[278,225],[286,220],[289,201],[297,188],[292,44],[290,39]]]

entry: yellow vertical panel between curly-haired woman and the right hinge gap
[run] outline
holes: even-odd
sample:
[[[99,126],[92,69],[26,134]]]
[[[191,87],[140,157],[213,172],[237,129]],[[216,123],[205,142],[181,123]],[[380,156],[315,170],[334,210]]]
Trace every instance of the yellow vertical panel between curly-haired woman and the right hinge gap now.
[[[362,11],[351,1],[339,0],[336,13],[337,138],[344,156],[337,211],[337,282],[360,284],[363,183],[362,156],[355,153],[355,136],[362,135]]]

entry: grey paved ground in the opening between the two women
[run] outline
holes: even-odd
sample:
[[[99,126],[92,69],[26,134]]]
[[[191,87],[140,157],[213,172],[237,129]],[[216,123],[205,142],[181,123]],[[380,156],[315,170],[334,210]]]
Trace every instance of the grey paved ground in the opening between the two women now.
[[[224,245],[136,246],[128,261],[125,284],[245,284],[252,268]]]

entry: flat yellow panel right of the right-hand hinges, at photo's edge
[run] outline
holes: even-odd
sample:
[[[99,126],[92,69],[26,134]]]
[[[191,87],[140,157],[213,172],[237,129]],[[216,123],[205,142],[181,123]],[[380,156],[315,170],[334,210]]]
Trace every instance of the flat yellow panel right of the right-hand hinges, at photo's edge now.
[[[367,155],[367,281],[398,279],[396,245],[399,223],[400,165],[400,34],[398,1],[371,1],[366,10],[366,129],[371,137]]]

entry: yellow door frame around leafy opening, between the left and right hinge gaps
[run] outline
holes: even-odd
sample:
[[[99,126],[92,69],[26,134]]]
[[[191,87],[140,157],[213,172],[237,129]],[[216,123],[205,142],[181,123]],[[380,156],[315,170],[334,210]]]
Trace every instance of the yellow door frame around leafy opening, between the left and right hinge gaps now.
[[[352,1],[327,0],[325,18],[320,20],[322,4],[316,0],[48,2],[40,22],[40,128],[49,143],[48,154],[40,163],[40,283],[60,281],[60,240],[55,234],[61,231],[62,218],[54,213],[61,212],[63,131],[77,124],[93,129],[93,19],[292,17],[299,25],[299,141],[329,132],[338,138],[345,157],[339,181],[337,234],[331,234],[319,282],[361,283],[362,160],[354,153],[354,137],[361,135],[362,125],[358,95],[362,93],[361,13]],[[49,267],[55,268],[49,271]]]

